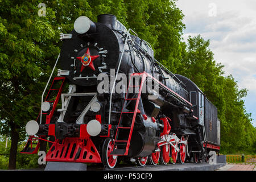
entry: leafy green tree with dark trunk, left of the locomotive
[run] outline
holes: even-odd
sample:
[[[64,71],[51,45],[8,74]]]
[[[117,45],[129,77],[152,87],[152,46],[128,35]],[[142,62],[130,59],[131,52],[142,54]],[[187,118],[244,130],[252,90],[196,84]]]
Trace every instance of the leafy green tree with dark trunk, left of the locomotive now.
[[[39,16],[39,1],[1,1],[0,126],[11,137],[9,169],[16,167],[18,142],[28,118],[36,118],[52,59],[59,53],[55,12]]]

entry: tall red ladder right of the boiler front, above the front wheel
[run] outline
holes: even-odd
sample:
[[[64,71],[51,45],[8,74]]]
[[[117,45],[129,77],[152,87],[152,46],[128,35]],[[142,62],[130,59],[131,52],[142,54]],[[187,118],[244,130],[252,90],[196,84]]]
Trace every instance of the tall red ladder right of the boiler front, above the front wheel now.
[[[141,84],[139,84],[139,82],[137,81],[138,85],[134,85],[133,81],[131,82],[131,80],[133,80],[134,77],[141,78]],[[118,123],[118,127],[117,127],[117,132],[115,134],[114,147],[113,147],[114,150],[111,153],[112,155],[128,155],[130,141],[131,141],[131,135],[133,134],[135,118],[136,118],[137,113],[141,112],[140,110],[138,110],[138,105],[139,105],[139,100],[141,98],[142,86],[143,86],[144,81],[146,80],[146,77],[147,76],[144,73],[133,73],[130,76],[129,85],[128,85],[127,92],[125,95],[125,102],[122,107],[122,111],[120,114],[119,123]],[[128,98],[129,91],[131,90],[129,88],[139,88],[139,92],[136,93],[137,98],[135,98],[135,97]],[[134,89],[132,89],[132,90],[134,90]],[[126,109],[126,107],[133,101],[135,102],[134,110]],[[128,104],[127,104],[127,102],[128,102]],[[130,126],[125,126],[128,124],[122,123],[123,116],[125,114],[132,114],[132,113],[133,113],[133,119],[131,121]],[[121,148],[119,148],[119,146],[121,146]]]

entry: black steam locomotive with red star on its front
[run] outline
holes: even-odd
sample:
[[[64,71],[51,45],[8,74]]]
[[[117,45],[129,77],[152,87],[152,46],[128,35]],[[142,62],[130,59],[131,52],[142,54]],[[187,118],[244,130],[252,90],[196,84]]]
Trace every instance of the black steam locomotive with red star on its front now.
[[[80,16],[60,35],[60,69],[49,78],[38,118],[26,125],[21,153],[36,154],[46,140],[46,161],[114,168],[121,160],[197,163],[218,152],[220,121],[204,93],[155,60],[150,44],[116,16],[97,18]]]

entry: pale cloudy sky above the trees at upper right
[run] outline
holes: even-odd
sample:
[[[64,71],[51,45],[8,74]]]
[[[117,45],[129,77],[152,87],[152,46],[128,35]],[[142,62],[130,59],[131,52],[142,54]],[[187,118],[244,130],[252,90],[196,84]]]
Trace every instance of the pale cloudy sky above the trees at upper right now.
[[[240,89],[246,88],[245,107],[256,127],[256,1],[178,0],[185,15],[183,38],[200,34],[210,39],[214,60],[222,63]]]

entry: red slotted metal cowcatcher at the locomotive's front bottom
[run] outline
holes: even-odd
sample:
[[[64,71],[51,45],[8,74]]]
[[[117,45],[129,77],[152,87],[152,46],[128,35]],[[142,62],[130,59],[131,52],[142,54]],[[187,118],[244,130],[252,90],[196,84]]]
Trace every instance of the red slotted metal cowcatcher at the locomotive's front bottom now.
[[[101,163],[101,157],[90,138],[57,139],[46,154],[46,161]]]

